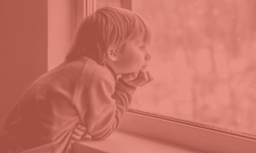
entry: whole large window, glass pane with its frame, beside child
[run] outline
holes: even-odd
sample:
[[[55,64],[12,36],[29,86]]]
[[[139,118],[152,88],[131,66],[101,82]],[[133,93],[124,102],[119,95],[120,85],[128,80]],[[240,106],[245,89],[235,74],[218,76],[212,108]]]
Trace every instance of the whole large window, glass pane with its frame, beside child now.
[[[207,152],[256,150],[256,1],[96,1],[108,5],[152,29],[154,82],[120,129]]]

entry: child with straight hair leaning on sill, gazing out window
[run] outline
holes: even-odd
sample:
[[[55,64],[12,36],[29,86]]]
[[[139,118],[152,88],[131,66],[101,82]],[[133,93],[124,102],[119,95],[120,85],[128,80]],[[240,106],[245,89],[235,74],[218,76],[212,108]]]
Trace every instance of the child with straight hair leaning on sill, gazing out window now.
[[[92,139],[106,139],[136,88],[153,80],[145,71],[149,39],[146,23],[122,8],[84,19],[66,61],[39,77],[4,117],[0,152],[68,152],[79,122]]]

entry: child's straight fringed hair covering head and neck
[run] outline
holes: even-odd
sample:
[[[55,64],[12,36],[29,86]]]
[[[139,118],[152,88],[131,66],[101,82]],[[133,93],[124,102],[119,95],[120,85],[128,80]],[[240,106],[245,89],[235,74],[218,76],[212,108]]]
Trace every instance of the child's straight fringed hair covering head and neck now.
[[[87,56],[105,65],[108,49],[113,48],[119,54],[125,42],[143,37],[143,41],[149,43],[150,36],[146,22],[130,10],[100,8],[83,20],[66,60],[70,62]]]

